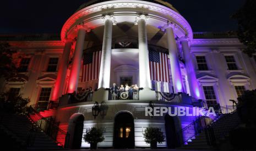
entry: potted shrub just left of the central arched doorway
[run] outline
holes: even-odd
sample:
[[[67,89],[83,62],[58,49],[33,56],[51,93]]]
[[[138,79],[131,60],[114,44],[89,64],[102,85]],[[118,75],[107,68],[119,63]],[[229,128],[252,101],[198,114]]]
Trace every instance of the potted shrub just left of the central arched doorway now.
[[[90,149],[97,149],[97,143],[104,141],[105,138],[102,136],[101,129],[92,127],[86,130],[84,134],[84,141],[90,143]]]

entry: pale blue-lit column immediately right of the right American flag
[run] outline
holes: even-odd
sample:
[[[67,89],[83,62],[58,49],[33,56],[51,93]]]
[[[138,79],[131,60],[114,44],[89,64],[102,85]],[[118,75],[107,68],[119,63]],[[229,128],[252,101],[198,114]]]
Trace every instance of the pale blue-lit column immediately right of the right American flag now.
[[[184,92],[184,86],[182,82],[181,68],[179,67],[175,34],[173,33],[174,27],[175,25],[168,23],[162,28],[162,30],[166,30],[171,73],[172,73],[172,83],[173,83],[174,92],[178,93],[178,92]]]

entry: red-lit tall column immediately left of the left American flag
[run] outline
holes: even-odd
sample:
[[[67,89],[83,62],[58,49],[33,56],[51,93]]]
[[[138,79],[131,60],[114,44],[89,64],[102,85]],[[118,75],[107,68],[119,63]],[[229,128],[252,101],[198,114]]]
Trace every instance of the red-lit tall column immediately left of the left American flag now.
[[[77,36],[77,43],[75,44],[72,68],[70,71],[68,93],[77,91],[81,60],[83,57],[85,33],[90,31],[90,29],[85,25],[78,25],[77,30],[78,30],[78,36]]]

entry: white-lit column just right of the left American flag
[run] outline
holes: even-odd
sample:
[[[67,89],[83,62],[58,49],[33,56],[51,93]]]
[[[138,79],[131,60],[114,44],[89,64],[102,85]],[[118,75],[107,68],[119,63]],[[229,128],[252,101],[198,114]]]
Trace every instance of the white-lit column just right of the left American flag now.
[[[112,26],[116,24],[112,15],[102,16],[102,19],[105,21],[105,27],[101,51],[99,89],[110,87]]]

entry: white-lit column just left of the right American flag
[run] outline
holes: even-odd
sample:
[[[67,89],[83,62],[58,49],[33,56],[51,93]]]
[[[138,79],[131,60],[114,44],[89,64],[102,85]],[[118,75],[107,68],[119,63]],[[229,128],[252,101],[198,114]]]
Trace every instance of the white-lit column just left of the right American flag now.
[[[139,86],[144,89],[151,89],[149,50],[146,37],[146,19],[148,16],[138,15],[138,40],[139,40]]]

